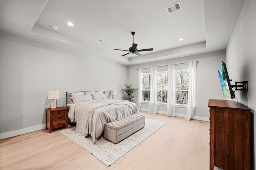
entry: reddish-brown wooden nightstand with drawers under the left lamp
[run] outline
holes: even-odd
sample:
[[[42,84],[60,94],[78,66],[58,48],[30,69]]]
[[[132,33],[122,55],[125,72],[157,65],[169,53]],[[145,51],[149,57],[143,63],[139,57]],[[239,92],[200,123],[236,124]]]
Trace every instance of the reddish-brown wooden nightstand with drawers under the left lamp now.
[[[49,133],[52,132],[52,129],[63,126],[68,128],[68,107],[46,109],[46,129],[49,129]]]

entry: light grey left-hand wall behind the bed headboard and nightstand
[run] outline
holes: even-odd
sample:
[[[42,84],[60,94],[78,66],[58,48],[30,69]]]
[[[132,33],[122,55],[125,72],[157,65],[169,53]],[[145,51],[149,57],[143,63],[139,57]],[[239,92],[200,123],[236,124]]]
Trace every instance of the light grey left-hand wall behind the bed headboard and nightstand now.
[[[58,107],[66,106],[66,91],[106,90],[108,96],[116,89],[115,99],[122,98],[127,66],[48,47],[55,48],[1,32],[1,138],[45,128],[49,90],[60,91]]]

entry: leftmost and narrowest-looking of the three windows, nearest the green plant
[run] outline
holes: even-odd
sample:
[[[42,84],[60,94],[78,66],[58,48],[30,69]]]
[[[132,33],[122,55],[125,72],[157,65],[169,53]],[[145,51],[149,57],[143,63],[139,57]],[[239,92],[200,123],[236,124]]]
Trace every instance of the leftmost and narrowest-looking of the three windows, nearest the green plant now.
[[[150,100],[150,81],[151,75],[150,73],[142,74],[142,101]]]

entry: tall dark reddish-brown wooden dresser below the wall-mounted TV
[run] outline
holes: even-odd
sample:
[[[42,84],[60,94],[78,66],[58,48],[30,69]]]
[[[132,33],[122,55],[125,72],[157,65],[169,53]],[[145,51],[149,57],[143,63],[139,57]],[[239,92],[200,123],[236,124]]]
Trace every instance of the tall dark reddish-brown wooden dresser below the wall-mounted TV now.
[[[231,100],[209,100],[210,170],[250,170],[250,109]]]

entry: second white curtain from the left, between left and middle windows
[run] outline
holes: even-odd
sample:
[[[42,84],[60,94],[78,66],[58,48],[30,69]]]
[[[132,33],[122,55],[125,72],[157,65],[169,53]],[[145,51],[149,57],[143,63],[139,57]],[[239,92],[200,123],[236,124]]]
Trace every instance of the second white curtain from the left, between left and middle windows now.
[[[148,113],[157,113],[157,67],[151,67],[151,88]]]

